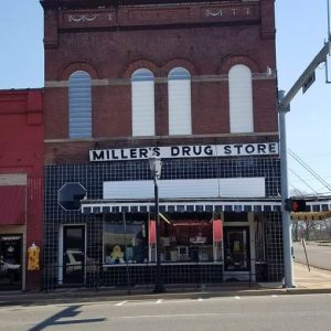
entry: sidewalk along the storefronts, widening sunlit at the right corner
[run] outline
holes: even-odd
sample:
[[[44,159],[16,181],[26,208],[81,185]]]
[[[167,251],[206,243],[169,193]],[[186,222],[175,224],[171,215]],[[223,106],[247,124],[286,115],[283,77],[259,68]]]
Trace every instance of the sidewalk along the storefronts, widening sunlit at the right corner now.
[[[0,306],[9,305],[53,305],[72,302],[97,302],[121,301],[142,299],[174,299],[174,298],[207,298],[225,296],[267,296],[267,295],[300,295],[300,293],[331,293],[331,271],[321,270],[299,263],[293,264],[295,288],[282,288],[282,284],[259,282],[248,286],[247,284],[224,284],[222,286],[197,289],[194,287],[172,288],[166,293],[152,293],[151,290],[109,289],[61,289],[51,292],[0,292]]]

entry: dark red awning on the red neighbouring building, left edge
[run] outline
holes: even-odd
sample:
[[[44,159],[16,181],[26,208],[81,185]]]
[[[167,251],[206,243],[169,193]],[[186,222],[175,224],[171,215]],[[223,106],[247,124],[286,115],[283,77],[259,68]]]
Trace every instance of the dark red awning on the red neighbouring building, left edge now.
[[[25,186],[0,186],[0,225],[25,224]]]

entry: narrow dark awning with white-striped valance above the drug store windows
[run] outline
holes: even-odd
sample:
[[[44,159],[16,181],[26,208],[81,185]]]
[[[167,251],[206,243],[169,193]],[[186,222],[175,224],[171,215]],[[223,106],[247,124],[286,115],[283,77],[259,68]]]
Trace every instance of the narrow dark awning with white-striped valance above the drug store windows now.
[[[280,212],[279,199],[160,199],[160,212]],[[154,211],[153,200],[83,200],[83,214],[146,213]]]

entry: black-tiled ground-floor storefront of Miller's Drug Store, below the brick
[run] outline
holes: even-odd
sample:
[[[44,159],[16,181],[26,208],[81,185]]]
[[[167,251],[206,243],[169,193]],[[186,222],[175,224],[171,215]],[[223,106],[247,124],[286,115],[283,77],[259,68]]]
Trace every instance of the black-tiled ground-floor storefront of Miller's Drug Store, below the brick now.
[[[164,284],[280,280],[277,145],[265,156],[171,158],[162,156],[167,149],[158,149],[164,157],[159,180]],[[150,177],[143,156],[46,167],[45,287],[154,282]]]

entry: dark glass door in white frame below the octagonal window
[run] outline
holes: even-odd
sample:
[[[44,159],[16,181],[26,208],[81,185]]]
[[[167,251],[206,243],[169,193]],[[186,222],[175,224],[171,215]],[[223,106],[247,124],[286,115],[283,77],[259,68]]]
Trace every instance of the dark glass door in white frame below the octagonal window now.
[[[63,228],[63,282],[82,284],[85,275],[85,226]]]

